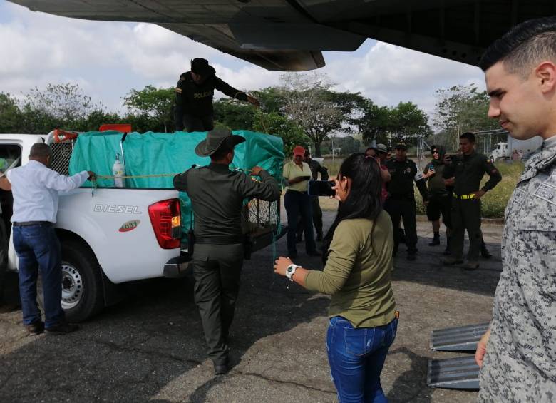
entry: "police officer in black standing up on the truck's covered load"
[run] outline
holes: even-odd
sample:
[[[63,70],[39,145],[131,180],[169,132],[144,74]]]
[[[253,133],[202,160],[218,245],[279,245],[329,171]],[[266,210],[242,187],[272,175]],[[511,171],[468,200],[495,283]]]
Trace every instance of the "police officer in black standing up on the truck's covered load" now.
[[[212,96],[215,89],[232,98],[259,106],[259,101],[228,85],[215,75],[215,69],[204,58],[191,61],[191,71],[180,76],[175,88],[175,129],[210,131],[213,127]]]

